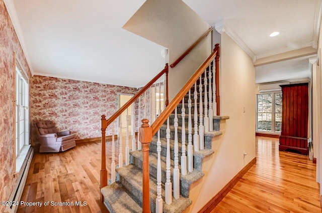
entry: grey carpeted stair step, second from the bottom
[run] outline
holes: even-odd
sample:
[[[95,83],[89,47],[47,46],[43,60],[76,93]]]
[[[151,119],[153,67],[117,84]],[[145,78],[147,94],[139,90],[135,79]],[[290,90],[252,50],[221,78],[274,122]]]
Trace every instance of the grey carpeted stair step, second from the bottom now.
[[[142,170],[137,166],[130,164],[117,168],[117,176],[122,185],[138,199],[139,205],[142,205]],[[150,178],[150,209],[151,212],[155,212],[155,198],[156,198],[156,180]],[[162,198],[165,200],[164,185],[162,190]],[[177,200],[173,198],[170,205],[163,202],[163,212],[166,213],[179,213],[188,208],[192,203],[192,200],[183,196],[180,196]],[[120,211],[122,212],[122,211]]]

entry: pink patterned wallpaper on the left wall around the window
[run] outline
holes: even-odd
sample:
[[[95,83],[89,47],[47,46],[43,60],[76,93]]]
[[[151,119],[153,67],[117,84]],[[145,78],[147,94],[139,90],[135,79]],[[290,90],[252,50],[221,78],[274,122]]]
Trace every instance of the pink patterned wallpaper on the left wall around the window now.
[[[31,73],[4,1],[0,0],[0,200],[8,200],[14,177],[14,52],[22,68]],[[8,194],[4,188],[8,186]],[[5,206],[0,205],[0,212]]]

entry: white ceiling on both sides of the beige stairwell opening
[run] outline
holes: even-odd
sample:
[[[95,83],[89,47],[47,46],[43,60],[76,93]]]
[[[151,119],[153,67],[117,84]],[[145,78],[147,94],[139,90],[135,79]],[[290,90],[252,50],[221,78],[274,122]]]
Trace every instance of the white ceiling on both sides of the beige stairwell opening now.
[[[144,2],[5,0],[34,75],[130,87],[144,85],[165,65],[165,47],[122,29]],[[237,35],[254,60],[316,48],[320,0],[183,2],[217,30],[224,25]],[[281,34],[269,37],[274,31]]]

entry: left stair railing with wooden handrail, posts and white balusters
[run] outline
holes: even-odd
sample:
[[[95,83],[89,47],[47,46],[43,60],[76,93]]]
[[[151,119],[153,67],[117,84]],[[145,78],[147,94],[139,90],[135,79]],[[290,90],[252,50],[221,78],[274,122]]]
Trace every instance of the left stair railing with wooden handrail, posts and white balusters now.
[[[131,120],[131,148],[132,150],[136,150],[136,140],[135,140],[135,101],[136,101],[136,105],[138,105],[137,110],[138,110],[138,122],[140,122],[140,119],[142,119],[142,116],[144,115],[144,119],[146,118],[146,111],[149,110],[146,108],[146,102],[147,99],[151,98],[151,94],[149,94],[150,92],[150,88],[151,87],[159,87],[159,93],[158,93],[158,101],[160,103],[160,86],[163,85],[164,87],[164,96],[163,99],[164,100],[164,104],[168,105],[169,103],[169,95],[168,95],[168,74],[169,74],[169,66],[168,64],[166,64],[165,68],[158,73],[151,81],[149,81],[137,94],[135,94],[129,101],[127,101],[119,110],[117,110],[109,119],[106,119],[105,115],[102,115],[101,117],[101,124],[102,124],[102,167],[101,167],[101,180],[100,180],[100,188],[103,188],[104,186],[107,185],[108,182],[108,172],[106,169],[106,130],[107,128],[111,125],[111,133],[112,133],[112,148],[111,148],[111,157],[112,157],[112,162],[111,162],[111,182],[115,182],[115,178],[116,178],[116,171],[115,171],[115,167],[116,167],[116,162],[115,162],[115,139],[114,139],[114,133],[115,133],[115,126],[118,127],[118,139],[119,139],[119,156],[118,156],[118,162],[119,162],[119,167],[123,166],[123,150],[122,150],[122,122],[121,122],[121,114],[123,112],[126,111],[126,146],[125,146],[125,164],[128,165],[129,164],[129,151],[130,151],[130,144],[129,144],[129,117],[128,117],[128,107],[132,105],[132,120]],[[164,80],[165,81],[161,81],[161,77],[164,76]],[[148,94],[148,95],[147,95]],[[154,94],[155,95],[155,94]],[[148,96],[148,97],[147,97]],[[156,97],[154,98],[156,100]],[[141,108],[144,108],[144,112],[141,112]],[[160,114],[160,112],[158,112],[158,114]],[[151,115],[149,115],[149,117],[151,117]],[[119,123],[117,124],[117,118],[119,118]],[[151,119],[151,118],[150,118]],[[142,127],[145,127],[146,125],[148,125],[148,120],[145,119],[144,121],[147,121],[147,123],[143,122]],[[124,126],[124,124],[123,124]],[[142,142],[142,147],[143,147],[143,153],[148,153],[148,146],[146,146],[146,142],[144,140],[143,137],[146,137],[147,133],[145,132],[145,135],[141,136],[140,132],[138,132],[138,138],[140,138],[140,140],[137,142],[138,143],[138,150],[141,149],[141,143]],[[147,148],[147,152],[146,152],[146,148]],[[148,155],[146,155],[148,156]],[[145,156],[145,157],[146,157]],[[144,155],[143,155],[144,158]],[[145,158],[144,158],[145,159]],[[103,194],[101,194],[101,201],[104,201],[104,197]]]

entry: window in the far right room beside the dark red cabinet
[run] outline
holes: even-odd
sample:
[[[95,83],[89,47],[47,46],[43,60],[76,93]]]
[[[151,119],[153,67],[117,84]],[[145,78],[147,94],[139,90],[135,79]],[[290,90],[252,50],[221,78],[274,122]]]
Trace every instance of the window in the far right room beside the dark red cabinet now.
[[[257,95],[257,131],[281,132],[282,93]]]

